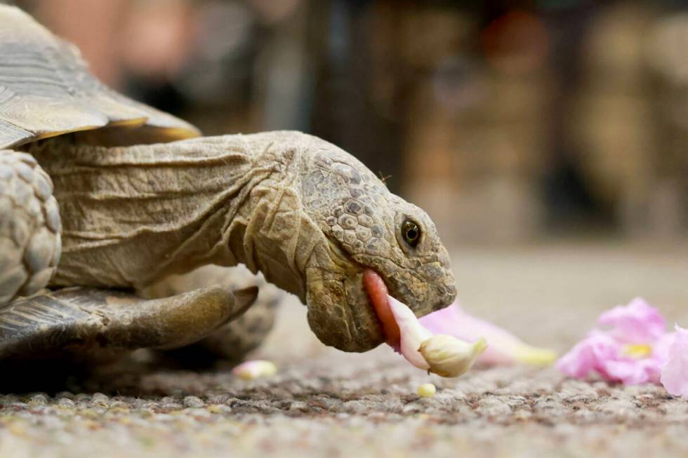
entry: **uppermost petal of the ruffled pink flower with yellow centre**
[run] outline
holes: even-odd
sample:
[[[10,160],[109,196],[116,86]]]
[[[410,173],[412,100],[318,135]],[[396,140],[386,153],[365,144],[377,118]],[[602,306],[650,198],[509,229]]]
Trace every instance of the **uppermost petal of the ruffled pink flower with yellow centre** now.
[[[614,307],[600,315],[597,320],[602,326],[610,326],[611,335],[621,342],[653,342],[663,335],[666,328],[659,311],[640,297],[628,305]]]

